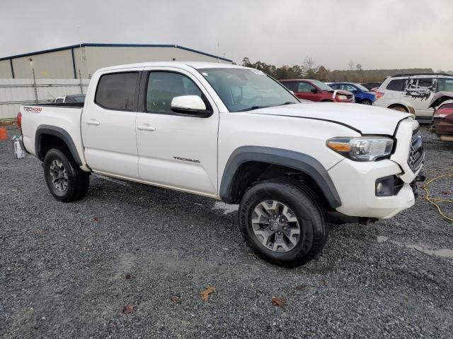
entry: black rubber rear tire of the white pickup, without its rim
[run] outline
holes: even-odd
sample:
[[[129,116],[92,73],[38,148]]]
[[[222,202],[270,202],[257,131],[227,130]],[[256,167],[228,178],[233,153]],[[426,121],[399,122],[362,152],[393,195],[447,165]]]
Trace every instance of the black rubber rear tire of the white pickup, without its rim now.
[[[53,178],[50,167],[56,160],[61,162],[62,168],[65,169],[67,174],[67,186],[65,189],[57,189],[53,184]],[[76,201],[83,198],[88,191],[90,185],[90,174],[82,171],[79,166],[76,165],[73,158],[67,150],[61,150],[52,148],[49,150],[44,157],[44,177],[47,187],[50,193],[58,201],[68,203],[70,201]]]

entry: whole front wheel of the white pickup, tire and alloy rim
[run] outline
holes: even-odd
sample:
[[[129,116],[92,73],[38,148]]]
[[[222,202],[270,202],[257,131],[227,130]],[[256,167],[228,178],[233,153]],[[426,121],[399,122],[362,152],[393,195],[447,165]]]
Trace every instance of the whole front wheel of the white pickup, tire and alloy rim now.
[[[275,214],[270,213],[270,206],[277,211]],[[239,227],[255,254],[287,268],[302,266],[315,258],[328,237],[325,211],[314,193],[302,183],[281,179],[260,182],[246,191],[239,206]]]

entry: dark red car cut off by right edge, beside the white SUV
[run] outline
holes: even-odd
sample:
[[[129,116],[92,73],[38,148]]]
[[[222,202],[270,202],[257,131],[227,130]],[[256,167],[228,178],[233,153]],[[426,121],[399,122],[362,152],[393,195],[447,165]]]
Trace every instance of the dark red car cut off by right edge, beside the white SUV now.
[[[430,107],[434,109],[430,131],[436,133],[440,141],[453,142],[453,92],[436,93]]]

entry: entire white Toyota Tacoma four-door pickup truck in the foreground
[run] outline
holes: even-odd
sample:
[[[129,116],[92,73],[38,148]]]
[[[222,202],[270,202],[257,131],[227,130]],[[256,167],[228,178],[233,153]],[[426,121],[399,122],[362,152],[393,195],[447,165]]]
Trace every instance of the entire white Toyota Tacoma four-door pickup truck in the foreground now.
[[[413,206],[425,156],[411,114],[301,103],[265,73],[230,64],[108,67],[83,107],[23,106],[21,119],[23,147],[57,200],[84,197],[101,173],[240,203],[248,246],[286,267],[319,254],[328,222]]]

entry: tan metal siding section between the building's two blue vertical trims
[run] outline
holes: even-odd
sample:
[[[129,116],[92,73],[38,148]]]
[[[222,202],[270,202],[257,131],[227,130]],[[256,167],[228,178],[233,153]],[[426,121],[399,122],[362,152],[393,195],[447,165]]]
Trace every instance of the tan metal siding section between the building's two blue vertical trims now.
[[[74,79],[71,49],[13,59],[17,79],[33,79],[32,67],[37,79]]]

